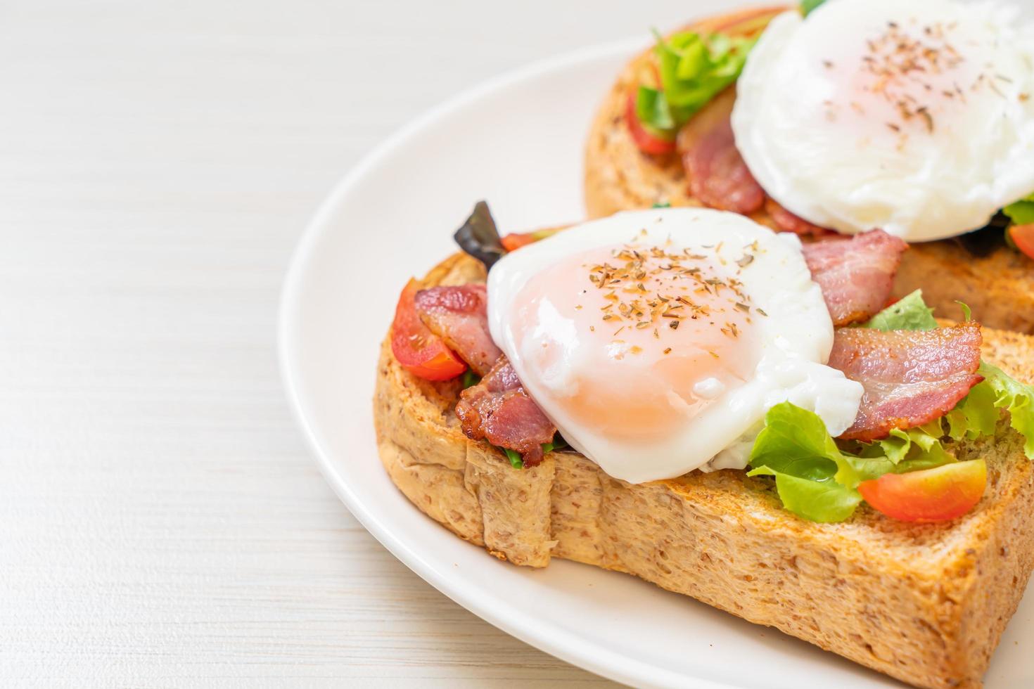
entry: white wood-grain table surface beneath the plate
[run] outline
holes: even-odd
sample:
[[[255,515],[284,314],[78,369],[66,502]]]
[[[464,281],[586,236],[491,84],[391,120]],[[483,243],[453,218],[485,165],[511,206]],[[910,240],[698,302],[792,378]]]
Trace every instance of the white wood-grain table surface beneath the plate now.
[[[0,686],[603,684],[347,513],[281,393],[277,295],[406,120],[714,4],[0,4]]]

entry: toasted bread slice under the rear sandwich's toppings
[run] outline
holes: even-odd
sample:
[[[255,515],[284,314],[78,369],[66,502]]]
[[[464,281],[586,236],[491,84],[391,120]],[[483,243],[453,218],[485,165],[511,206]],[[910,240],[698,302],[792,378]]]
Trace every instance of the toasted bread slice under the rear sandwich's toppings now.
[[[713,31],[752,11],[758,10],[708,18],[687,29]],[[700,206],[689,195],[678,156],[643,155],[625,125],[626,98],[649,69],[650,53],[647,50],[637,56],[618,75],[589,129],[584,180],[589,218],[655,203]],[[763,211],[752,217],[776,227]],[[926,304],[940,316],[957,314],[954,302],[962,300],[990,327],[1034,333],[1034,262],[1005,246],[975,256],[953,240],[913,244],[898,271],[894,295],[901,297],[919,287]]]

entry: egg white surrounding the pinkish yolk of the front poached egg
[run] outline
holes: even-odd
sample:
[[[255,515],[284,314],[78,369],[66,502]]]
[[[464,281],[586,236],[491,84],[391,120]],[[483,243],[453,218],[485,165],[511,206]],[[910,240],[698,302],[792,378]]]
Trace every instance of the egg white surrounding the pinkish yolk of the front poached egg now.
[[[740,259],[743,248],[757,243],[754,260],[739,271],[738,279],[752,304],[767,317],[755,321],[761,355],[746,383],[725,389],[702,381],[695,393],[712,399],[710,406],[676,433],[632,442],[575,422],[557,403],[558,396],[577,384],[578,376],[607,374],[579,368],[580,348],[598,345],[601,334],[579,333],[549,309],[542,310],[531,332],[517,333],[514,323],[520,320],[517,296],[539,272],[589,249],[637,237],[656,246],[670,241],[676,249],[691,249],[726,264]],[[488,317],[492,338],[565,439],[609,475],[634,483],[698,468],[746,467],[751,439],[763,426],[765,412],[787,400],[818,413],[830,434],[839,435],[853,422],[862,395],[859,383],[825,366],[832,347],[832,321],[819,286],[811,279],[799,240],[732,213],[704,209],[620,213],[509,253],[489,273]],[[561,341],[567,352],[562,366],[548,371],[530,365],[534,356],[528,355],[546,335]]]

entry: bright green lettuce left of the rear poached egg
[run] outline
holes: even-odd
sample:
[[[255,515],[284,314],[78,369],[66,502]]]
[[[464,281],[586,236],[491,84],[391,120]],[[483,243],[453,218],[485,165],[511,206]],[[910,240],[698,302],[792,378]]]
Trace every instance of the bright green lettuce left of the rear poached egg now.
[[[711,98],[736,81],[755,38],[693,31],[657,36],[661,88],[639,87],[636,117],[662,136],[673,136]]]

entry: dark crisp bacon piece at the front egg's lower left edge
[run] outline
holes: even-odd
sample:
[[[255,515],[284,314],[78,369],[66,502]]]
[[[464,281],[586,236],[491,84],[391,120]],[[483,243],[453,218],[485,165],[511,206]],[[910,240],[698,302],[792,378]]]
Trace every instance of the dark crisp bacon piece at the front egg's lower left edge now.
[[[466,437],[520,452],[526,467],[542,462],[542,445],[556,433],[556,427],[524,393],[506,356],[480,383],[463,390],[456,415]]]

